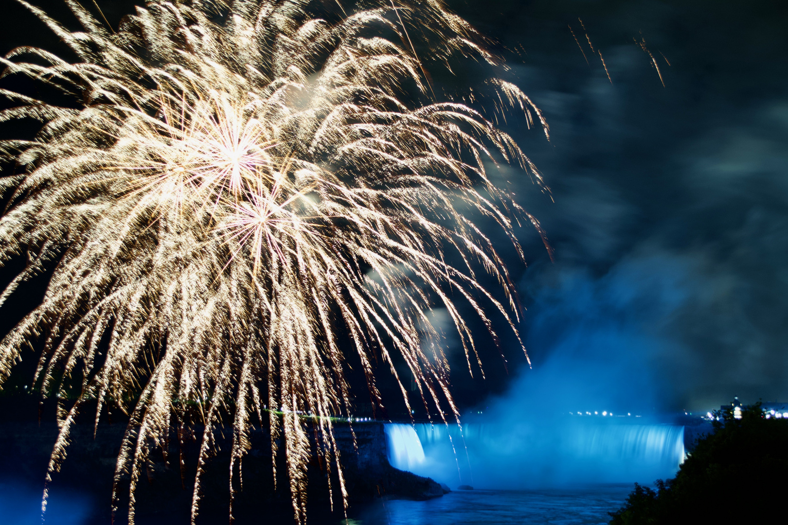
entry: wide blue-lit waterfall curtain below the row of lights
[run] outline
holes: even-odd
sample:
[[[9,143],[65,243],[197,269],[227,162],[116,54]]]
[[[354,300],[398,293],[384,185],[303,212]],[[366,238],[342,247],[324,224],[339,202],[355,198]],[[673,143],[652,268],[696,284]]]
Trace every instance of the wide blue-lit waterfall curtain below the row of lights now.
[[[684,458],[684,427],[631,419],[474,423],[463,425],[462,432],[429,424],[417,424],[415,430],[402,424],[385,428],[394,467],[449,486],[651,483],[675,475]]]

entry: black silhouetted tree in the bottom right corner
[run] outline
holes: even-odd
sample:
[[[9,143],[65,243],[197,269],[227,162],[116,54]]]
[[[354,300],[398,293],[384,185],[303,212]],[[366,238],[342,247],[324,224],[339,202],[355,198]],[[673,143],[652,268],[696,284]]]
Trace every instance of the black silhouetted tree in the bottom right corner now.
[[[635,483],[611,525],[771,523],[788,494],[788,419],[756,405],[716,412],[714,432],[697,440],[674,479],[656,490]]]

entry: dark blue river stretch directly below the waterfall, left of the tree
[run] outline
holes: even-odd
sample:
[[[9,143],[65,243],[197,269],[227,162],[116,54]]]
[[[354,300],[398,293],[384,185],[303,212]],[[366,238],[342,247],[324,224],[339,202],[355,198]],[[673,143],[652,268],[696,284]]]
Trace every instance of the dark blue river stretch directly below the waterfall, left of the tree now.
[[[459,490],[428,501],[375,501],[351,509],[351,525],[455,525],[459,523],[608,523],[632,485],[550,490]],[[330,523],[330,522],[326,522]],[[333,523],[344,523],[341,522]]]

